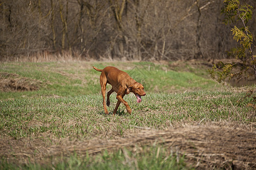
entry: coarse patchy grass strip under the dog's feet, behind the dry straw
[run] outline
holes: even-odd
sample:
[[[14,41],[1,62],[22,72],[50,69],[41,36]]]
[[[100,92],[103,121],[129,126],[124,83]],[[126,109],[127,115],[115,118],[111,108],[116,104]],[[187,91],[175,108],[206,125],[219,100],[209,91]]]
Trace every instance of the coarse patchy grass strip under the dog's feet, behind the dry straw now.
[[[4,100],[0,103],[0,132],[16,139],[31,135],[38,137],[45,132],[57,138],[90,139],[96,132],[100,137],[110,127],[122,135],[122,131],[133,126],[165,129],[181,121],[199,122],[203,119],[254,121],[249,117],[253,108],[247,107],[252,99],[244,98],[237,102],[243,96],[240,93],[209,91],[148,94],[142,97],[142,103],[137,104],[135,96],[128,95],[125,100],[131,105],[132,114],[120,105],[115,117],[103,113],[100,95]],[[111,106],[108,107],[111,114],[116,101],[112,95]]]

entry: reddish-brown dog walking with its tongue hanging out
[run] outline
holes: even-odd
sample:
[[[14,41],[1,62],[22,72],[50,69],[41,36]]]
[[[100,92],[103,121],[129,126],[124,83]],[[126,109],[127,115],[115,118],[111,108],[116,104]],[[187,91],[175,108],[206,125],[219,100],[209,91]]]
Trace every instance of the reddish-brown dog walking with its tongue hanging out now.
[[[116,67],[105,67],[102,69],[97,69],[93,66],[96,71],[102,72],[100,74],[99,82],[102,88],[102,96],[103,96],[103,107],[106,114],[108,114],[107,106],[110,106],[110,95],[112,92],[116,92],[116,99],[118,100],[116,103],[116,107],[114,109],[113,114],[116,114],[117,108],[119,107],[120,103],[123,103],[127,109],[129,114],[132,113],[131,108],[129,107],[127,101],[123,99],[124,95],[128,95],[129,92],[133,92],[137,97],[137,102],[141,102],[141,96],[145,96],[146,93],[144,92],[144,87],[142,84],[133,80],[127,73],[117,69]],[[107,106],[106,106],[106,86],[111,84],[112,88],[109,92],[107,92]]]

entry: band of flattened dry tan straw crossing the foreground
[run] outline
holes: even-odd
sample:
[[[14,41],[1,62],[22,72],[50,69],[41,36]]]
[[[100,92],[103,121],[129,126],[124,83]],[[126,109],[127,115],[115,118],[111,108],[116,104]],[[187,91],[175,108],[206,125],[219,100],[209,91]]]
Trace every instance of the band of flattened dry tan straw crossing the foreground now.
[[[128,148],[140,152],[141,146],[161,146],[169,152],[185,155],[188,165],[198,169],[254,169],[256,168],[255,124],[235,122],[208,122],[168,130],[141,130],[125,133],[115,140],[91,139],[90,141],[42,138],[0,137],[0,156],[9,162],[46,163],[49,158],[60,158],[77,153],[80,156],[100,154],[104,150]]]

